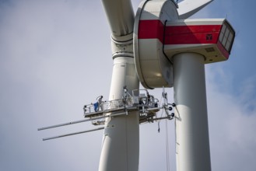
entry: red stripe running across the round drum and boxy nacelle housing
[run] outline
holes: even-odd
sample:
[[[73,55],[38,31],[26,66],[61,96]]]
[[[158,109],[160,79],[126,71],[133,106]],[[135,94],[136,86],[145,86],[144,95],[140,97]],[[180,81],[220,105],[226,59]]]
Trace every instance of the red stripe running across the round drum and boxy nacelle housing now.
[[[140,20],[139,39],[158,39],[163,44],[217,44],[221,25],[166,26],[160,20]]]

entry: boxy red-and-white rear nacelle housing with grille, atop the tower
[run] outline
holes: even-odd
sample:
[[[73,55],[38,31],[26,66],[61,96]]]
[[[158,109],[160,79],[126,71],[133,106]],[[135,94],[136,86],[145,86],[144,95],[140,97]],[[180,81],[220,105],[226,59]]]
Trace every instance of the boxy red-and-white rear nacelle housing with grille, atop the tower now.
[[[226,61],[230,56],[235,31],[226,19],[185,19],[168,22],[164,52],[172,60],[184,52],[202,54],[205,64]]]

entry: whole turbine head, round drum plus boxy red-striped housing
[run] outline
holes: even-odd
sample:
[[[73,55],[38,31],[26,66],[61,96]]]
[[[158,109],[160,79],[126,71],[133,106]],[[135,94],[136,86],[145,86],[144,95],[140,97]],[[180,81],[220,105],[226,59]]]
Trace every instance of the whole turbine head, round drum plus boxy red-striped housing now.
[[[190,2],[190,3],[188,3]],[[212,0],[141,2],[135,16],[133,49],[139,81],[147,89],[173,86],[173,57],[198,53],[205,64],[226,61],[235,31],[226,19],[185,19]],[[191,5],[188,8],[188,5]],[[187,8],[187,9],[186,9]]]

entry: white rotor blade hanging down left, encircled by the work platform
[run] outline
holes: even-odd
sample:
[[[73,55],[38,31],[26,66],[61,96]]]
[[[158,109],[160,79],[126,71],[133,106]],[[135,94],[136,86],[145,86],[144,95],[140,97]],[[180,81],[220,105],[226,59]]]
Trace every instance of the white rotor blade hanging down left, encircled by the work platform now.
[[[102,0],[112,37],[113,74],[109,99],[121,99],[124,86],[139,89],[139,79],[133,59],[134,12],[131,1]],[[132,94],[132,92],[130,92]],[[114,114],[114,113],[108,113]],[[99,171],[139,168],[139,113],[107,118]]]

